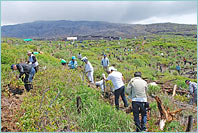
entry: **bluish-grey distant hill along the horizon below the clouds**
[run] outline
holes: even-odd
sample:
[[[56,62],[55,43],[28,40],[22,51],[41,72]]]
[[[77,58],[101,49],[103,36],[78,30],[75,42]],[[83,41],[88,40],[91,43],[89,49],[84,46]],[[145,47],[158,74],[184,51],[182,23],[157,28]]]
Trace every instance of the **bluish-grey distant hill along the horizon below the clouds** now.
[[[35,21],[2,26],[2,37],[17,38],[65,38],[68,36],[112,36],[126,37],[169,34],[196,36],[197,26],[175,23],[119,24],[101,21]]]

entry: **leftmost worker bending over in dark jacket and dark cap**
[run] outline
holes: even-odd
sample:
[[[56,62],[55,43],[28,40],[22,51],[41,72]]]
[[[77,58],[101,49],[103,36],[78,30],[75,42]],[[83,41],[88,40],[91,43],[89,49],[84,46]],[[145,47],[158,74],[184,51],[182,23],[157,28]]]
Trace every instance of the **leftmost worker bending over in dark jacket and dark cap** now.
[[[24,84],[25,84],[25,89],[27,91],[30,91],[30,89],[33,89],[32,87],[32,80],[33,80],[33,77],[34,77],[34,74],[36,73],[35,72],[35,69],[32,65],[30,64],[23,64],[23,63],[20,63],[20,64],[13,64],[11,66],[11,69],[12,70],[18,70],[20,72],[20,75],[19,75],[19,78],[21,78],[21,76],[23,74],[25,74],[25,79],[23,80]]]

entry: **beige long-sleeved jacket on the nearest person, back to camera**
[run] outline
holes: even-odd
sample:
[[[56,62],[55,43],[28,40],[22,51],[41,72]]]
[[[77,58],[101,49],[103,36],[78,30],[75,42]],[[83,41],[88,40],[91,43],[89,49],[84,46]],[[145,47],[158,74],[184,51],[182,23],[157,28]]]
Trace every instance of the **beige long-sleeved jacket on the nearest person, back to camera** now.
[[[146,90],[147,82],[140,77],[135,77],[129,82],[126,93],[132,101],[147,102]]]

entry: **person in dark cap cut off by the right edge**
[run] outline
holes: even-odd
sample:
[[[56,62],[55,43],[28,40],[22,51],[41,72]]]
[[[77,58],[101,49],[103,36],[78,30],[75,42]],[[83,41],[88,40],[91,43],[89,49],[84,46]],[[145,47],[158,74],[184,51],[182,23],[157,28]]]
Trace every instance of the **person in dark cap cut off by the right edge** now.
[[[195,103],[197,105],[197,83],[186,80],[185,83],[189,86],[190,94],[192,99],[190,99],[190,104]]]

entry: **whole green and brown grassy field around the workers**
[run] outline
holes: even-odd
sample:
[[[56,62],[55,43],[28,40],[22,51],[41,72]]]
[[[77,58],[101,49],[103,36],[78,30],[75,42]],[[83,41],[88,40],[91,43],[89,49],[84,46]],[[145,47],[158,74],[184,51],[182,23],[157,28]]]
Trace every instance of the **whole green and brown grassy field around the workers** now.
[[[86,56],[94,67],[94,79],[101,79],[105,73],[101,66],[103,53],[107,54],[110,65],[115,66],[130,81],[135,71],[141,71],[147,82],[160,82],[159,88],[150,89],[157,94],[163,104],[170,110],[184,108],[177,120],[166,124],[164,132],[182,132],[186,128],[186,118],[193,115],[194,126],[197,127],[197,107],[188,105],[187,95],[177,94],[171,97],[163,93],[166,87],[173,88],[176,84],[181,90],[188,90],[186,79],[197,81],[197,41],[191,37],[181,36],[148,36],[143,43],[139,39],[99,40],[75,42],[69,45],[64,41],[32,41],[24,42],[17,38],[2,38],[1,44],[1,98],[2,127],[8,131],[83,131],[83,132],[133,132],[135,125],[133,115],[124,111],[116,111],[108,99],[102,97],[95,86],[88,86],[82,81],[83,68],[69,70],[60,64],[60,59],[67,62],[72,56]],[[59,45],[60,44],[60,45]],[[82,47],[82,45],[84,47]],[[126,50],[124,50],[126,48]],[[129,50],[128,50],[129,49]],[[42,51],[36,55],[40,69],[36,73],[34,89],[21,95],[13,95],[12,89],[24,89],[23,82],[16,80],[18,72],[11,72],[14,63],[25,62],[27,51]],[[163,53],[163,55],[161,54]],[[192,62],[184,65],[183,57]],[[77,59],[78,65],[84,64]],[[181,74],[175,67],[181,66]],[[162,66],[160,71],[159,66]],[[107,74],[106,74],[107,75]],[[8,88],[8,84],[11,86]],[[81,97],[82,109],[77,111],[76,98]],[[159,132],[155,123],[159,120],[157,103],[149,97],[151,118],[148,129]],[[11,104],[12,103],[12,104]],[[13,104],[17,103],[17,104]],[[122,105],[121,105],[122,106]],[[7,108],[9,107],[9,110]],[[7,118],[6,116],[10,116]]]

